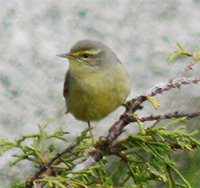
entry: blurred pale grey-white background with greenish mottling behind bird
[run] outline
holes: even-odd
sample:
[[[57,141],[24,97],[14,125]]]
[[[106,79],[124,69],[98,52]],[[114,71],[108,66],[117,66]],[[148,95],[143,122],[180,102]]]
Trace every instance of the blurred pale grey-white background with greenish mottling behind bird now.
[[[49,131],[62,127],[72,140],[87,126],[64,114],[62,89],[68,61],[56,57],[78,40],[100,41],[116,53],[131,78],[128,99],[179,76],[191,58],[167,61],[178,50],[177,41],[188,51],[200,51],[200,0],[1,0],[1,4],[0,139],[12,141],[36,133],[37,124],[46,118]],[[199,75],[200,65],[193,69],[188,75]],[[156,97],[158,110],[145,103],[139,115],[197,111],[199,93],[199,84],[173,89]],[[107,135],[121,112],[122,107],[94,122],[95,137]],[[186,124],[188,131],[200,130],[199,117]],[[11,154],[0,157],[0,185],[5,187],[32,173],[32,167],[8,167]],[[199,154],[194,150],[176,156],[193,187],[200,186]]]

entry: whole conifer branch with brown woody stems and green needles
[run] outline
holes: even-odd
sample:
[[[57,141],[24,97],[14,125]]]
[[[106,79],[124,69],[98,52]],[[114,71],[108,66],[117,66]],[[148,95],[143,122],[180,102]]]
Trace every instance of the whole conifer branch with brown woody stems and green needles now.
[[[175,111],[163,115],[152,114],[147,117],[139,117],[135,114],[138,109],[142,108],[141,105],[146,100],[158,107],[153,98],[157,94],[163,94],[163,92],[173,88],[180,88],[182,85],[200,82],[200,75],[186,76],[188,71],[192,70],[192,67],[200,60],[200,53],[190,53],[180,43],[177,45],[180,50],[169,57],[170,61],[179,55],[193,58],[189,65],[182,70],[180,76],[166,83],[158,84],[146,94],[126,102],[125,112],[111,126],[108,135],[100,137],[95,145],[91,145],[91,140],[87,136],[88,130],[85,130],[77,137],[75,144],[71,144],[62,153],[55,155],[54,144],[48,144],[46,141],[56,138],[67,143],[64,136],[68,132],[56,129],[54,133],[48,134],[44,130],[48,123],[38,126],[39,134],[22,136],[15,142],[9,142],[7,139],[0,140],[0,154],[14,147],[21,149],[22,154],[13,155],[17,158],[13,165],[26,159],[39,166],[40,169],[26,181],[26,188],[87,187],[87,185],[95,187],[96,184],[108,187],[112,178],[111,176],[107,178],[106,170],[101,163],[104,161],[104,156],[110,155],[117,156],[120,163],[126,167],[127,175],[122,178],[121,183],[119,182],[121,186],[132,179],[138,187],[149,187],[151,180],[165,182],[171,187],[176,187],[178,184],[173,176],[175,173],[184,186],[190,188],[187,180],[175,168],[171,154],[176,150],[191,151],[194,148],[199,148],[200,143],[193,138],[197,131],[187,133],[185,126],[178,126],[173,131],[168,130],[168,128],[200,116],[200,111],[189,113]],[[164,119],[170,119],[170,122],[157,126]],[[146,121],[154,122],[148,128],[144,128],[143,123]],[[130,123],[136,123],[139,131],[124,139],[117,140],[124,132],[124,128]],[[27,139],[33,140],[30,146],[24,144]],[[93,149],[88,150],[91,146]],[[99,163],[101,165],[97,163],[99,161],[101,161]]]

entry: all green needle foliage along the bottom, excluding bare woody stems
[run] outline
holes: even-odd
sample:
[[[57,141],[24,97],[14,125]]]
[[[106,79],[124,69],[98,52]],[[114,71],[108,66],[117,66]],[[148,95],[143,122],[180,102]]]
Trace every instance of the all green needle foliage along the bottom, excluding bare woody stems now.
[[[123,150],[122,157],[115,158],[112,171],[106,163],[109,156],[104,156],[98,163],[81,171],[73,171],[75,161],[81,160],[93,152],[87,151],[92,147],[91,140],[85,130],[77,137],[77,143],[70,152],[65,153],[49,167],[49,172],[43,173],[40,178],[33,181],[33,187],[151,187],[157,183],[163,183],[167,187],[190,187],[187,180],[176,169],[171,159],[176,150],[181,149],[190,152],[198,148],[200,143],[193,137],[197,131],[187,133],[185,126],[175,127],[176,124],[186,118],[177,118],[168,124],[156,127],[162,121],[158,120],[149,128],[142,128],[137,135],[130,135],[120,140]],[[19,148],[21,152],[13,155],[15,160],[11,165],[28,160],[35,166],[35,171],[42,168],[51,158],[56,155],[55,139],[62,140],[66,145],[66,132],[56,129],[53,134],[45,131],[48,123],[39,125],[39,133],[9,142],[0,141],[0,153],[12,148]],[[156,125],[156,126],[155,126]],[[142,125],[140,125],[142,126]],[[170,130],[169,130],[170,129]],[[29,144],[26,143],[29,140]],[[32,142],[30,142],[30,140]],[[31,144],[30,144],[31,143]],[[87,153],[88,152],[88,153]],[[174,175],[178,179],[174,179]],[[117,177],[117,180],[115,179]],[[11,187],[24,187],[25,182],[14,183]]]

